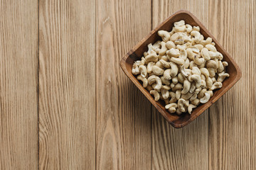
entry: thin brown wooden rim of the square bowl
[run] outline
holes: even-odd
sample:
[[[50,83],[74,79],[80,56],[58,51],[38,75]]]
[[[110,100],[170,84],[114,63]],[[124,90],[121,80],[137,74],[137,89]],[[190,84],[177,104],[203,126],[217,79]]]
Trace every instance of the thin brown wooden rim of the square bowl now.
[[[163,111],[162,108],[160,108],[158,106],[158,103],[156,103],[156,101],[152,101],[151,100],[151,95],[149,94],[149,91],[146,91],[146,89],[144,89],[144,87],[142,86],[142,84],[137,84],[137,79],[134,77],[134,75],[132,74],[132,72],[129,72],[126,68],[126,62],[127,62],[127,58],[132,55],[139,47],[141,47],[144,42],[150,38],[150,36],[155,33],[157,30],[159,30],[159,28],[161,28],[162,26],[164,26],[164,24],[169,21],[171,18],[173,18],[174,16],[176,16],[177,14],[180,13],[186,13],[189,16],[191,16],[191,18],[193,18],[193,20],[198,23],[198,25],[200,26],[200,28],[202,28],[203,30],[206,31],[206,33],[208,34],[208,36],[210,38],[213,39],[213,42],[215,42],[216,45],[218,45],[218,47],[220,47],[221,50],[223,50],[223,52],[225,52],[225,55],[228,57],[228,59],[230,60],[230,62],[233,64],[233,67],[235,67],[235,70],[237,72],[237,74],[235,74],[235,79],[233,81],[230,82],[230,84],[228,84],[228,86],[225,86],[225,88],[223,89],[223,91],[220,93],[220,95],[215,96],[215,98],[213,98],[212,101],[210,101],[210,105],[206,108],[203,108],[202,111],[199,111],[201,113],[198,113],[197,115],[191,115],[191,117],[186,120],[183,123],[179,123],[176,124],[174,121],[169,120],[169,118],[167,118],[166,116],[166,112],[167,111]],[[137,86],[137,88],[142,91],[142,94],[144,94],[144,96],[146,96],[146,98],[151,102],[151,104],[161,113],[161,115],[174,127],[174,128],[183,128],[185,125],[188,125],[189,123],[191,123],[193,120],[195,120],[196,118],[198,118],[204,111],[206,111],[213,103],[215,103],[215,101],[217,101],[221,96],[223,96],[233,85],[235,85],[238,80],[242,77],[242,72],[240,70],[240,68],[238,67],[238,64],[235,62],[235,60],[233,60],[233,57],[231,57],[229,55],[229,53],[223,48],[222,45],[220,45],[220,43],[214,38],[214,36],[210,33],[210,31],[208,31],[208,29],[203,26],[203,24],[198,20],[198,18],[196,18],[196,16],[193,16],[193,14],[189,11],[186,10],[179,10],[176,11],[175,13],[171,14],[171,16],[169,16],[168,18],[166,18],[163,22],[161,22],[158,26],[156,26],[156,28],[154,28],[153,30],[151,30],[149,32],[149,34],[147,34],[144,38],[142,38],[142,40],[140,40],[137,45],[135,45],[134,47],[132,47],[131,50],[129,50],[129,52],[127,52],[126,55],[124,55],[124,57],[122,57],[122,60],[119,63],[120,67],[122,68],[124,74],[127,75],[127,77]],[[135,80],[136,79],[136,80]],[[225,90],[226,89],[226,90]],[[203,104],[205,105],[205,104]],[[170,114],[170,113],[169,113]]]

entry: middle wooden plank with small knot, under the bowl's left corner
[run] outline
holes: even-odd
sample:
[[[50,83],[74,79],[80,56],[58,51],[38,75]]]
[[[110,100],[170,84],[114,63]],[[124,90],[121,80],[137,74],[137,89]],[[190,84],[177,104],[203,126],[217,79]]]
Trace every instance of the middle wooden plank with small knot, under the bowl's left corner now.
[[[150,103],[119,67],[151,30],[151,1],[96,4],[97,169],[151,169]]]

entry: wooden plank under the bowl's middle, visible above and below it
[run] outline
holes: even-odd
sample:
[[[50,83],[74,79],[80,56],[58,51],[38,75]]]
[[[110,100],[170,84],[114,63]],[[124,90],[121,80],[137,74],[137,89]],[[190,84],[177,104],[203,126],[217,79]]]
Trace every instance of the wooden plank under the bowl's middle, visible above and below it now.
[[[153,28],[179,9],[191,11],[208,28],[208,1],[153,0]],[[208,111],[182,129],[152,114],[153,169],[208,169]]]

